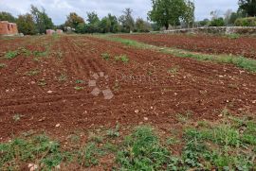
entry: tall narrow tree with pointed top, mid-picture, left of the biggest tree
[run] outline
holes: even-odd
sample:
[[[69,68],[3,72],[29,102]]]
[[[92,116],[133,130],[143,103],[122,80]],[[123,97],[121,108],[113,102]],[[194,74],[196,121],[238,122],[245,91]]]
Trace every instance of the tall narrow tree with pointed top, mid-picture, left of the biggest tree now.
[[[132,16],[132,9],[124,9],[122,11],[123,15],[119,17],[119,22],[125,32],[131,32],[135,28],[135,20]]]

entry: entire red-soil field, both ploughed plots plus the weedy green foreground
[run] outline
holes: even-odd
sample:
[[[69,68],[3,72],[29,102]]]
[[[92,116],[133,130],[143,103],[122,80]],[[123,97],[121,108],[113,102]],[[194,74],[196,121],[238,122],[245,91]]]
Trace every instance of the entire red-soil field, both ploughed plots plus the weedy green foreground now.
[[[241,55],[245,69],[111,37],[0,40],[0,170],[255,168],[255,38],[114,36]]]

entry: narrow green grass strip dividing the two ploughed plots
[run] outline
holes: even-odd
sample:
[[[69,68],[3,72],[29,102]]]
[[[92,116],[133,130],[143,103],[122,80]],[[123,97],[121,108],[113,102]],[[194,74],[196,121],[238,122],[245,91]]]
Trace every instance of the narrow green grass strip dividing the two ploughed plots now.
[[[159,47],[146,43],[139,43],[133,40],[122,39],[118,37],[109,37],[107,35],[98,35],[98,38],[123,43],[125,45],[133,46],[136,48],[150,49],[160,51],[165,54],[171,54],[175,57],[191,58],[195,60],[209,60],[218,63],[229,63],[237,67],[246,69],[250,72],[256,72],[256,60],[247,59],[245,57],[233,56],[233,55],[208,55],[202,53],[190,52],[187,50],[177,49],[173,47]]]

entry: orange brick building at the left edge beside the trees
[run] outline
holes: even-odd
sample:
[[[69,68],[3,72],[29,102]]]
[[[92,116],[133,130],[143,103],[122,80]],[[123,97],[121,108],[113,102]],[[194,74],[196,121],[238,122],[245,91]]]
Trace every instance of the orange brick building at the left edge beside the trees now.
[[[0,21],[0,35],[17,35],[18,27],[14,23],[8,21]]]

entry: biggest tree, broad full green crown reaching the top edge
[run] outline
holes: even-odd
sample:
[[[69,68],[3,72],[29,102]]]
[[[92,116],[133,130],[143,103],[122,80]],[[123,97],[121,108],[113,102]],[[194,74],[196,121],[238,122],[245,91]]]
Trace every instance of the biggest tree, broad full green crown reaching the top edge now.
[[[152,0],[153,9],[149,11],[149,19],[158,26],[177,26],[183,20],[193,22],[194,5],[190,0]]]

